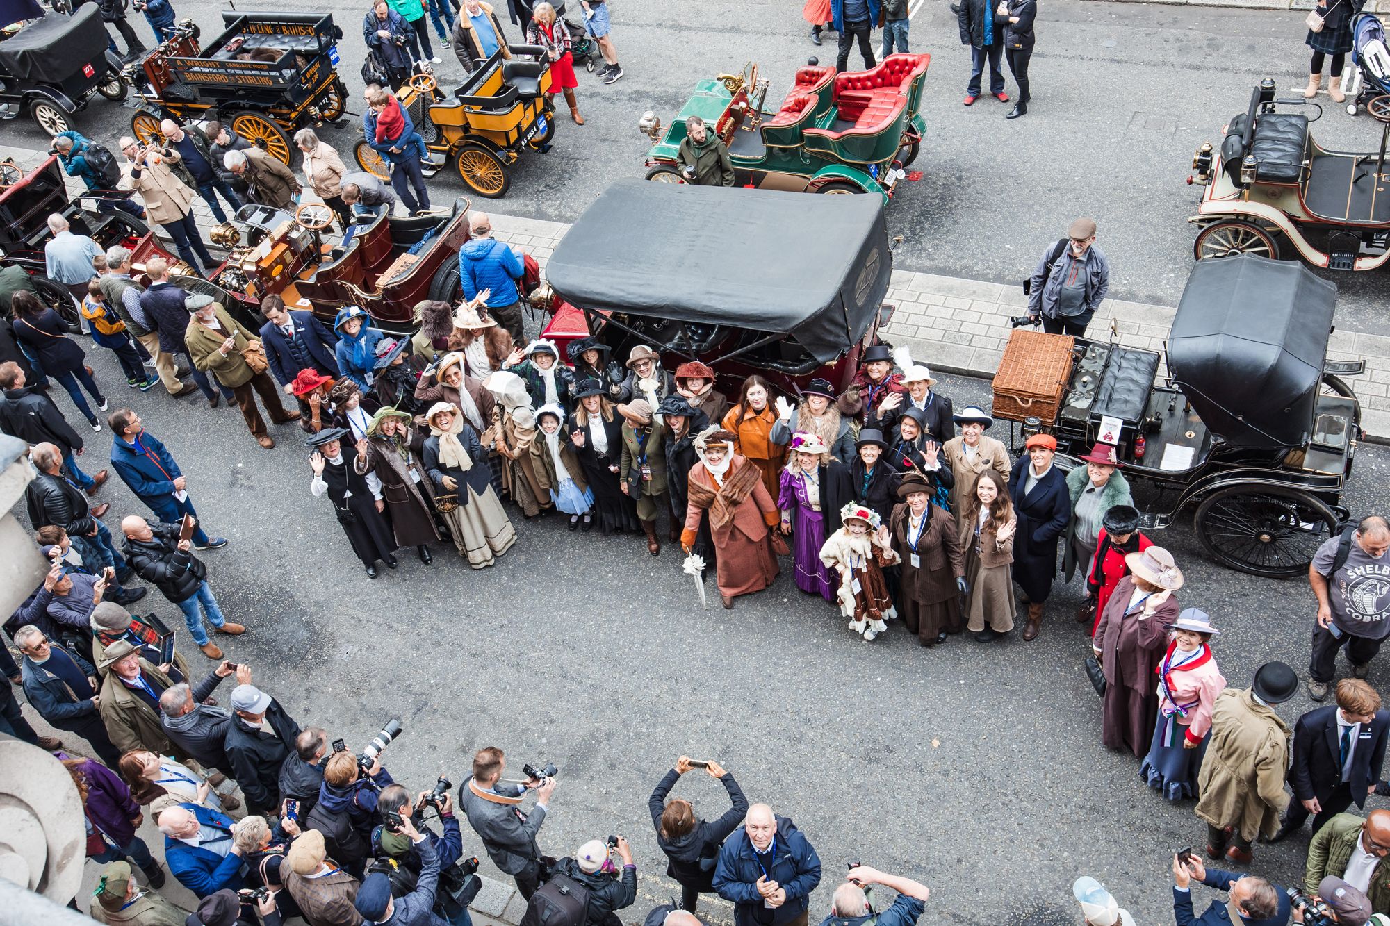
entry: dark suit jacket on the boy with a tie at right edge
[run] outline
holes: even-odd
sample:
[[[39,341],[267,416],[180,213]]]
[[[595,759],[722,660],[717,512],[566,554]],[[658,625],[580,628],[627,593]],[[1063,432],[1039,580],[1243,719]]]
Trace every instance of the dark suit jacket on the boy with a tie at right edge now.
[[[1376,710],[1371,723],[1357,730],[1351,751],[1351,799],[1364,806],[1366,793],[1384,781],[1382,766],[1386,761],[1386,733],[1390,731],[1390,710]],[[1326,801],[1341,783],[1341,752],[1337,731],[1337,708],[1316,708],[1298,717],[1294,724],[1294,756],[1289,766],[1289,784],[1300,801]]]

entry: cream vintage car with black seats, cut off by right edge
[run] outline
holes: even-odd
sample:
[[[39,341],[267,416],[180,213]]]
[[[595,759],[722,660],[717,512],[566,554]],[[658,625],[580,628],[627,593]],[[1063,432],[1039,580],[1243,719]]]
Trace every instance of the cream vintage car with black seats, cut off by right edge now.
[[[1220,150],[1211,142],[1197,149],[1187,178],[1202,189],[1197,214],[1187,220],[1201,228],[1195,257],[1277,259],[1287,249],[1327,270],[1382,267],[1390,260],[1390,197],[1380,195],[1390,97],[1368,106],[1384,124],[1379,152],[1326,150],[1308,131],[1308,115],[1276,111],[1276,104],[1322,115],[1301,97],[1275,100],[1275,82],[1266,78],[1227,124]]]

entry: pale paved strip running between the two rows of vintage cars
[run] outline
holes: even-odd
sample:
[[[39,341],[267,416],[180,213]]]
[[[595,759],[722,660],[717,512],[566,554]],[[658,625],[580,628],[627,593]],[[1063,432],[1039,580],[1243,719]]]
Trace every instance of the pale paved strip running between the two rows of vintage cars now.
[[[6,156],[14,157],[25,170],[46,157],[43,152],[0,146],[0,157]],[[82,182],[68,178],[68,188],[79,195]],[[484,209],[492,216],[498,239],[530,253],[543,271],[569,224],[505,216],[493,211],[492,206],[481,199],[473,202],[474,209]],[[206,231],[214,221],[202,199],[195,200],[195,217],[206,241]],[[994,377],[1009,338],[1009,317],[1022,314],[1024,300],[1017,285],[894,270],[888,302],[897,304],[897,311],[881,335],[895,345],[910,346],[912,356],[933,370],[988,380]],[[1104,338],[1113,323],[1120,342],[1162,352],[1173,311],[1172,306],[1106,299],[1090,331]],[[1333,360],[1365,359],[1366,373],[1348,377],[1347,382],[1361,399],[1365,439],[1390,444],[1390,338],[1336,331],[1327,356]]]

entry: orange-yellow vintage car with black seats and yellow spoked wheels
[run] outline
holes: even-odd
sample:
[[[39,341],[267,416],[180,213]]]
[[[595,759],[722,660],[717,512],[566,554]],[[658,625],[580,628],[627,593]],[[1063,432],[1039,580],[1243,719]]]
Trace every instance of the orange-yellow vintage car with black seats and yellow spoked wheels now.
[[[532,44],[510,44],[512,58],[498,50],[474,68],[452,96],[430,74],[416,74],[400,88],[416,131],[430,149],[425,177],[452,164],[478,196],[496,199],[512,186],[507,168],[527,147],[545,150],[555,136],[550,68],[523,56],[543,54]],[[366,139],[354,149],[364,171],[391,179],[391,165]]]

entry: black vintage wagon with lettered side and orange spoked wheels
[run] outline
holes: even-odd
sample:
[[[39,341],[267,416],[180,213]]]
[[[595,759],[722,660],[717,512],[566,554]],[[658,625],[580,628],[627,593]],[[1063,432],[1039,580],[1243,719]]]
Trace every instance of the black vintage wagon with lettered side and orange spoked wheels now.
[[[143,103],[131,118],[145,145],[160,121],[218,120],[291,164],[291,135],[342,118],[348,90],[335,70],[342,29],[328,13],[224,13],[227,29],[199,44],[183,19],[175,35],[125,70]]]

